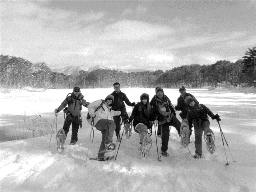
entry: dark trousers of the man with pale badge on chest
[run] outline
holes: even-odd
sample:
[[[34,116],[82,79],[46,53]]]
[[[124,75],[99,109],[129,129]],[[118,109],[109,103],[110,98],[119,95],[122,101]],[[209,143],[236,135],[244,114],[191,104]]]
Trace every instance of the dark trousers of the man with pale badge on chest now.
[[[169,126],[174,126],[178,131],[178,134],[180,135],[181,122],[175,116],[171,118],[170,122],[167,122],[161,125],[159,125],[158,123],[158,128],[160,127],[162,129],[162,146],[161,146],[162,151],[167,151],[168,149],[168,142],[169,142],[169,136],[170,136]]]

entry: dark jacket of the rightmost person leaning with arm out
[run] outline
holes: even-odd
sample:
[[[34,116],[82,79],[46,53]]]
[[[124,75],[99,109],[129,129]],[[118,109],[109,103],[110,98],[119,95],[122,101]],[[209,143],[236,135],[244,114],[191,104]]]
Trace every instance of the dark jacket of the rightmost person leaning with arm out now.
[[[193,107],[188,106],[188,126],[198,128],[202,126],[203,122],[209,121],[208,115],[213,119],[214,114],[209,108],[203,104],[195,104]]]

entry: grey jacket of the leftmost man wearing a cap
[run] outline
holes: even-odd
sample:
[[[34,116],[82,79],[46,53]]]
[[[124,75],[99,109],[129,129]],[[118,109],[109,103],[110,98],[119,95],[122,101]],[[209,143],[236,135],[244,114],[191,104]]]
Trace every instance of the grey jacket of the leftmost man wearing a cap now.
[[[80,93],[78,97],[72,93],[70,96],[67,96],[66,99],[62,102],[62,104],[58,107],[58,111],[61,111],[68,105],[68,112],[76,117],[78,115],[81,115],[82,107],[80,108],[80,105],[83,105],[85,107],[88,107],[90,104],[89,102],[86,102],[86,100],[83,99],[84,96]]]

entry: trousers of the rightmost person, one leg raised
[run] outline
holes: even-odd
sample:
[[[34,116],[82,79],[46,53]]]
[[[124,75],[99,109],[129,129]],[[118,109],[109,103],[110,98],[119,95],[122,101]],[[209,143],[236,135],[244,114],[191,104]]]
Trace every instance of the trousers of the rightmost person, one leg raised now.
[[[202,154],[202,135],[203,135],[203,131],[208,132],[208,130],[211,130],[209,121],[203,122],[202,126],[200,127],[194,126],[196,154],[199,154],[199,155]]]

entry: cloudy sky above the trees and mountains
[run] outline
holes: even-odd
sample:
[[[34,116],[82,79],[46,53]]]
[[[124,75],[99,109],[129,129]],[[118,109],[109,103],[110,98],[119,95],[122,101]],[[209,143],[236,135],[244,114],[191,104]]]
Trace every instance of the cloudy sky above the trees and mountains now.
[[[169,70],[235,62],[256,45],[255,1],[1,1],[1,54],[51,69]]]

